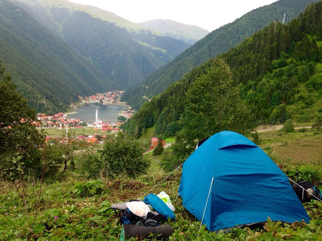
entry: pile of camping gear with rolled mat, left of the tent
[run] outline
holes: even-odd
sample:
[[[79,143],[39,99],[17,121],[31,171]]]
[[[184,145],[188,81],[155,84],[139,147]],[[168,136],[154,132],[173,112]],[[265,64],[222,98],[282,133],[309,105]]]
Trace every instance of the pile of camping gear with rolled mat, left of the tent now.
[[[151,193],[143,201],[130,200],[111,205],[122,224],[121,241],[129,237],[147,238],[151,234],[156,235],[158,239],[171,236],[172,228],[168,223],[164,224],[164,221],[167,219],[175,220],[175,214],[170,209],[172,204],[165,192],[158,195],[162,199]],[[150,210],[148,205],[155,211]]]

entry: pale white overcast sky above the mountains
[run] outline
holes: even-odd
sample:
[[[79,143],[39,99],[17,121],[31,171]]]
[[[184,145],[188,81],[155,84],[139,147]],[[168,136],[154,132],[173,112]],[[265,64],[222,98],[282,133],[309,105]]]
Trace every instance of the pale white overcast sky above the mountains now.
[[[171,19],[213,31],[243,14],[277,0],[70,0],[92,5],[131,22]]]

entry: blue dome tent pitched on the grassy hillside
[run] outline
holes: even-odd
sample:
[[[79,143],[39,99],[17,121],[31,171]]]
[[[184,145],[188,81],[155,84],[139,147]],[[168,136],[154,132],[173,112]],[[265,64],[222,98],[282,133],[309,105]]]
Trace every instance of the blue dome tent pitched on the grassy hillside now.
[[[232,131],[213,135],[186,159],[179,195],[197,219],[204,214],[210,231],[268,217],[289,223],[310,219],[288,177],[260,147]]]

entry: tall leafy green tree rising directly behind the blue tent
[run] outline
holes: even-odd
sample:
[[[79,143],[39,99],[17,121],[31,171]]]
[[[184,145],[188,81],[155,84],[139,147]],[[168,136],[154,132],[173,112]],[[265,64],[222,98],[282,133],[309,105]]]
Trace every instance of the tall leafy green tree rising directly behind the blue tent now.
[[[175,153],[184,158],[194,150],[198,140],[222,130],[242,134],[250,131],[250,110],[233,84],[229,66],[217,58],[207,73],[190,85],[181,118],[182,129],[173,147]]]

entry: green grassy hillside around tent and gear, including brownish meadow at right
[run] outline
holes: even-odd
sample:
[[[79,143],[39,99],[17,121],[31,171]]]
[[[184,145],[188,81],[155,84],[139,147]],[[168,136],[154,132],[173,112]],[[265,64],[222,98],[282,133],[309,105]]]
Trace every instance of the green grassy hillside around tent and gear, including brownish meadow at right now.
[[[146,133],[151,132],[147,129]],[[149,138],[148,134],[145,138]],[[290,134],[268,130],[259,132],[259,136],[260,147],[293,180],[302,178],[322,187],[322,145],[318,145],[322,143],[322,134],[312,130]],[[68,166],[62,182],[47,180],[41,184],[32,176],[24,183],[0,181],[0,240],[119,240],[121,225],[110,204],[142,200],[150,192],[161,191],[170,196],[176,209],[169,240],[321,240],[322,202],[313,200],[304,204],[312,219],[309,224],[268,221],[263,229],[236,228],[217,234],[202,227],[199,232],[200,222],[182,207],[181,198],[176,198],[181,170],[162,181],[166,173],[159,163],[170,149],[166,148],[161,156],[146,152],[144,156],[151,163],[147,174],[132,179],[120,176],[90,180],[84,160],[78,159],[75,168]]]

